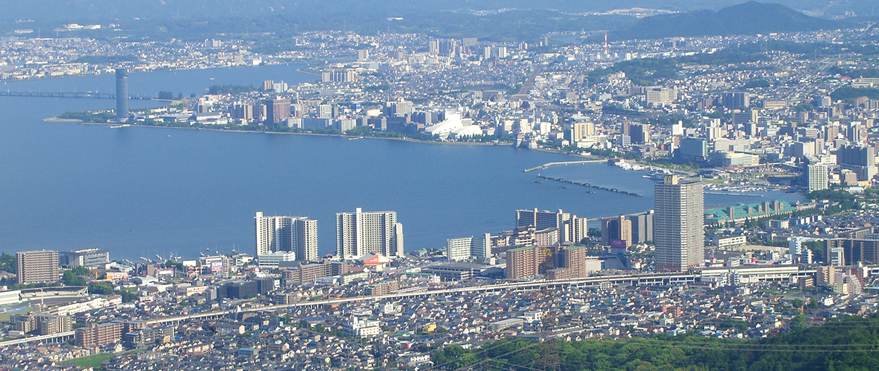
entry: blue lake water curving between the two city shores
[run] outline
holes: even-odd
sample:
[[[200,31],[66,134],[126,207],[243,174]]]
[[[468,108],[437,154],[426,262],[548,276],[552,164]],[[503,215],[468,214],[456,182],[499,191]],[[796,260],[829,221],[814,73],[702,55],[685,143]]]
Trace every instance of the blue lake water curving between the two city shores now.
[[[132,74],[132,94],[206,91],[212,84],[312,81],[300,66]],[[213,78],[213,79],[211,79]],[[0,83],[10,91],[113,91],[113,76]],[[132,107],[156,102],[132,101]],[[320,252],[334,252],[335,214],[394,210],[406,251],[450,237],[511,229],[517,208],[598,217],[652,208],[653,181],[606,164],[524,169],[570,156],[508,146],[50,123],[110,99],[0,97],[0,251],[106,248],[111,258],[252,253],[253,215],[308,215]],[[543,181],[537,173],[614,186],[644,197]],[[799,200],[796,195],[767,197]],[[706,204],[757,197],[706,195]],[[597,226],[597,225],[596,225]]]

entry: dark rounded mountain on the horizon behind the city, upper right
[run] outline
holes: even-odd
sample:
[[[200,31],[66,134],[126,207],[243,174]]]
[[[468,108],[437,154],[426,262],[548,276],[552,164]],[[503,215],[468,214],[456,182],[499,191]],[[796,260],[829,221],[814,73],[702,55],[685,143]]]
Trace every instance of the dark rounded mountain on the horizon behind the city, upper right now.
[[[662,39],[837,29],[843,24],[815,18],[781,4],[749,1],[719,11],[687,11],[642,18],[610,33],[613,40]]]

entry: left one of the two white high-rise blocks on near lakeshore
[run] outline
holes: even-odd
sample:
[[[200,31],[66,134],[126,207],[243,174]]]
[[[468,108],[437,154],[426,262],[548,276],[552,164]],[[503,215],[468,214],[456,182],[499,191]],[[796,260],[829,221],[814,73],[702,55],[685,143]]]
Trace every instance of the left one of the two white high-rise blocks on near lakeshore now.
[[[317,221],[304,216],[263,216],[257,212],[256,255],[293,251],[296,260],[317,259]]]

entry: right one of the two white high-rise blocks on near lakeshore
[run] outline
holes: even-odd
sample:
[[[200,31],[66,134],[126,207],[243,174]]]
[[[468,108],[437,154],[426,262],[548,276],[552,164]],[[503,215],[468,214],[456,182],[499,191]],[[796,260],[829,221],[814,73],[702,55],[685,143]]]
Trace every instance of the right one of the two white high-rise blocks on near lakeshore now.
[[[370,252],[386,257],[403,256],[403,224],[396,222],[396,212],[336,214],[336,250],[341,258],[357,258]]]

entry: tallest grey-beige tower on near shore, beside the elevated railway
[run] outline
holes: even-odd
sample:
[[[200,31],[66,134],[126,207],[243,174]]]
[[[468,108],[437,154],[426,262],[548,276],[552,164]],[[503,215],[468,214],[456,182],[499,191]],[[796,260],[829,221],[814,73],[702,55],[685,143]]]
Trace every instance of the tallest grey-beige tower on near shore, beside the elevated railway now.
[[[683,272],[705,259],[701,182],[665,176],[655,186],[653,234],[659,272]]]

